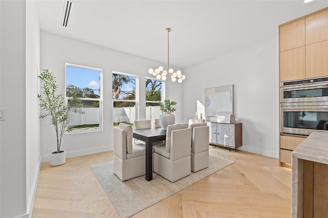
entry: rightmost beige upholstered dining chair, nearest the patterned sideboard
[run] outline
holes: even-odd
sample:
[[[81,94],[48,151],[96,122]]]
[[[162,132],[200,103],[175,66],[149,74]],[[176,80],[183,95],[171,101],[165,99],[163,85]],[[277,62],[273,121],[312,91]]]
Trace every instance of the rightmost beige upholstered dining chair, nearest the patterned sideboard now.
[[[197,172],[209,167],[210,127],[205,123],[193,123],[189,126],[191,137],[191,171]]]

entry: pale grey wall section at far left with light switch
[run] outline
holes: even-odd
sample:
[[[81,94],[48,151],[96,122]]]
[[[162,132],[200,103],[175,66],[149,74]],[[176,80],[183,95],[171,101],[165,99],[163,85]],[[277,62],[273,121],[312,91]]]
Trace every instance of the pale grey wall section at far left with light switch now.
[[[0,1],[0,217],[27,212],[26,183],[26,2]]]

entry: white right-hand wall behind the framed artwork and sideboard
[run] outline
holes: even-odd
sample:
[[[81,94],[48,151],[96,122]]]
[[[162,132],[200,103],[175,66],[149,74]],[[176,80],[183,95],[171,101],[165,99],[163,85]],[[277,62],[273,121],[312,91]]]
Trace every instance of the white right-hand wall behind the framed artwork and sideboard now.
[[[203,113],[205,88],[233,84],[234,114],[242,123],[238,149],[278,158],[278,32],[272,41],[184,70],[185,121]]]

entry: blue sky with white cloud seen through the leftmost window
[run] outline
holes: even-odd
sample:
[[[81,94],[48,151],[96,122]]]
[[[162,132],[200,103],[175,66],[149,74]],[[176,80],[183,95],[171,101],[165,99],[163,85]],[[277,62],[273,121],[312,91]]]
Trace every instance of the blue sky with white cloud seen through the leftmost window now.
[[[89,88],[99,95],[100,72],[85,68],[66,66],[66,86],[73,84],[80,89]]]

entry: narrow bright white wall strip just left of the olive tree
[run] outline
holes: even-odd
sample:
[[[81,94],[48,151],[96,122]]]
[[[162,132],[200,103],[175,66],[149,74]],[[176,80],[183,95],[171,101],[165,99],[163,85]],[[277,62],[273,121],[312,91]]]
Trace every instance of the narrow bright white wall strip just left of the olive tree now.
[[[26,1],[26,200],[27,213],[32,211],[41,164],[40,122],[37,94],[40,72],[40,28],[36,1]],[[31,214],[30,214],[31,215]]]

